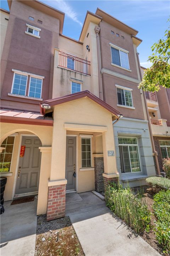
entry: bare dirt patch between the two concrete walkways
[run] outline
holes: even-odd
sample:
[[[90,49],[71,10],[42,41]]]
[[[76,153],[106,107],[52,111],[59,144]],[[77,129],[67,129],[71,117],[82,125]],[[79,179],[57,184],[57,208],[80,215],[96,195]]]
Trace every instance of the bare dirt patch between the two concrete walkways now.
[[[47,222],[46,214],[38,216],[35,256],[84,256],[69,217]]]

